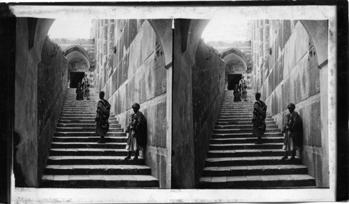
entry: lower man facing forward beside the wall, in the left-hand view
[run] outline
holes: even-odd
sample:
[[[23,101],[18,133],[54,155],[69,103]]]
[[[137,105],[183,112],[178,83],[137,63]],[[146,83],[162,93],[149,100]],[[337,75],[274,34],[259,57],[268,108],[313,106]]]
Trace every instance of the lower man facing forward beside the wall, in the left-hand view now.
[[[133,160],[137,160],[140,150],[142,151],[147,143],[147,120],[145,120],[143,113],[139,111],[140,104],[133,104],[132,109],[134,113],[131,114],[130,123],[126,128],[126,133],[128,133],[126,150],[128,152],[125,159],[131,159],[132,152],[135,152]]]

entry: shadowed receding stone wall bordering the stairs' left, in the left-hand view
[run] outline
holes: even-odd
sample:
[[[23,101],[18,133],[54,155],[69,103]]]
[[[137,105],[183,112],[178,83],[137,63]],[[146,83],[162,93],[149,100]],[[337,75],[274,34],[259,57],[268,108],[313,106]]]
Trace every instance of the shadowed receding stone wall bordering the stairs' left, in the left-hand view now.
[[[68,86],[68,61],[60,47],[46,38],[38,64],[38,180],[43,175],[52,136]],[[40,185],[40,184],[39,184]]]

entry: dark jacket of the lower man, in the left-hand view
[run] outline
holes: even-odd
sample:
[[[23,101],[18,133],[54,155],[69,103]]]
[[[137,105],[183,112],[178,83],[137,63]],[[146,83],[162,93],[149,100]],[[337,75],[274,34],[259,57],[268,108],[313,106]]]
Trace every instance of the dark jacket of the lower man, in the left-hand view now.
[[[141,111],[130,116],[130,123],[126,127],[126,132],[135,131],[135,137],[139,146],[144,148],[147,145],[147,120]]]

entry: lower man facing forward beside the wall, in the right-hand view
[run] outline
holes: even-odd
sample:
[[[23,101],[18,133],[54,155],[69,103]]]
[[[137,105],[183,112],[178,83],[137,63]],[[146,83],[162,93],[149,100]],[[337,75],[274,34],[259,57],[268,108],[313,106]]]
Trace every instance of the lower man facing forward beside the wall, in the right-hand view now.
[[[283,126],[283,134],[285,136],[283,141],[283,150],[285,150],[285,156],[281,159],[288,158],[288,152],[292,151],[291,160],[295,159],[296,150],[300,150],[302,145],[303,125],[299,114],[295,111],[295,104],[288,104],[289,114],[286,115],[285,125]]]

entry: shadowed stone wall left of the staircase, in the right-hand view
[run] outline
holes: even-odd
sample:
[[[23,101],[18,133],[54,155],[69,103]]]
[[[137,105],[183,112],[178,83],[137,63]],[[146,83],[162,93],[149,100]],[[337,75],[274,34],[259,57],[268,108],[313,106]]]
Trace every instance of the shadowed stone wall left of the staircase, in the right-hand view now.
[[[225,65],[216,50],[201,40],[192,70],[195,186],[198,187],[224,95]]]

